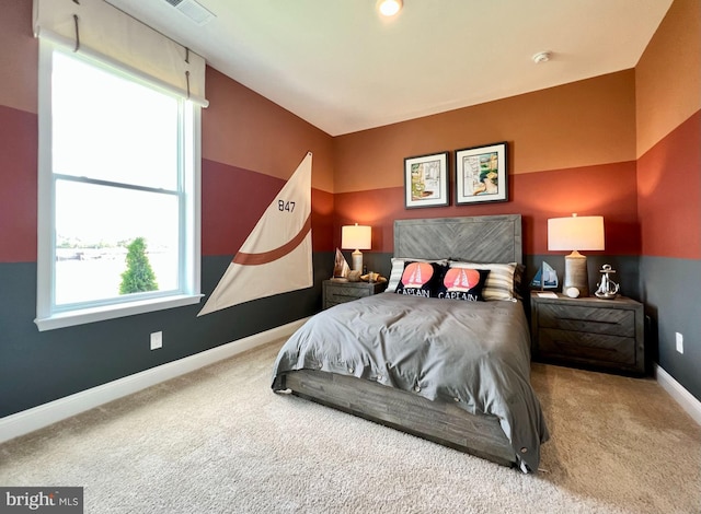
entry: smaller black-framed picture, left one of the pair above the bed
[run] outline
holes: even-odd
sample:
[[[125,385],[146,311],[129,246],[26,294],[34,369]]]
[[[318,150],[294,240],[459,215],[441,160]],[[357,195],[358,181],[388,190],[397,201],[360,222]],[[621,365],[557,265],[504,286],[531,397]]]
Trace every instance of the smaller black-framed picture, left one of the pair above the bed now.
[[[448,152],[404,159],[406,209],[447,206]]]

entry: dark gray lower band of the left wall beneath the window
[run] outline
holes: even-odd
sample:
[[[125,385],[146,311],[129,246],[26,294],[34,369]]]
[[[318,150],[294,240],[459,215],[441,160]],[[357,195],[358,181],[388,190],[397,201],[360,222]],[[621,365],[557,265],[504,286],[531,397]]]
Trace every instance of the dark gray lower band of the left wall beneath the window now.
[[[182,359],[287,323],[321,308],[321,280],[333,254],[314,260],[314,287],[197,317],[204,305],[39,332],[36,264],[0,264],[0,418]],[[203,291],[211,292],[231,256],[203,257]],[[163,348],[149,336],[163,331]]]

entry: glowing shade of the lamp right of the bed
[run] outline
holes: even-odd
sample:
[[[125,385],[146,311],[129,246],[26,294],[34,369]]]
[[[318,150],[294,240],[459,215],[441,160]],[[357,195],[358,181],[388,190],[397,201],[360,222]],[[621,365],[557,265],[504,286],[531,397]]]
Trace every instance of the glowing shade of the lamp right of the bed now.
[[[604,249],[604,217],[573,214],[548,220],[548,249]]]

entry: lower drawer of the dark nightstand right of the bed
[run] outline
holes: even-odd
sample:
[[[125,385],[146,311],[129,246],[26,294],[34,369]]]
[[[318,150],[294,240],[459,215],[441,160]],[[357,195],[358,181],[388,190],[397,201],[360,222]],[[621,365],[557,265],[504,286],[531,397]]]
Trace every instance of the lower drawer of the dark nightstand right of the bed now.
[[[542,327],[538,337],[539,351],[544,358],[625,366],[634,366],[636,362],[634,338]]]

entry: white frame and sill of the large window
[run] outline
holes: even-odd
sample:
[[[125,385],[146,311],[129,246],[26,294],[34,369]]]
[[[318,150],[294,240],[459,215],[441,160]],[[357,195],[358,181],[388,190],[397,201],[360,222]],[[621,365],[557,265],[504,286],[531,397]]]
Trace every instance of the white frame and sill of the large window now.
[[[39,38],[38,73],[38,209],[37,209],[37,302],[36,319],[39,331],[133,316],[199,303],[200,293],[200,163],[202,109],[185,102],[183,155],[185,209],[180,220],[182,274],[180,290],[171,294],[140,300],[115,300],[114,303],[80,306],[73,309],[55,308],[55,179],[51,168],[51,66],[54,51],[65,51],[50,40]],[[142,78],[124,73],[135,81]],[[152,85],[152,84],[151,84]]]

